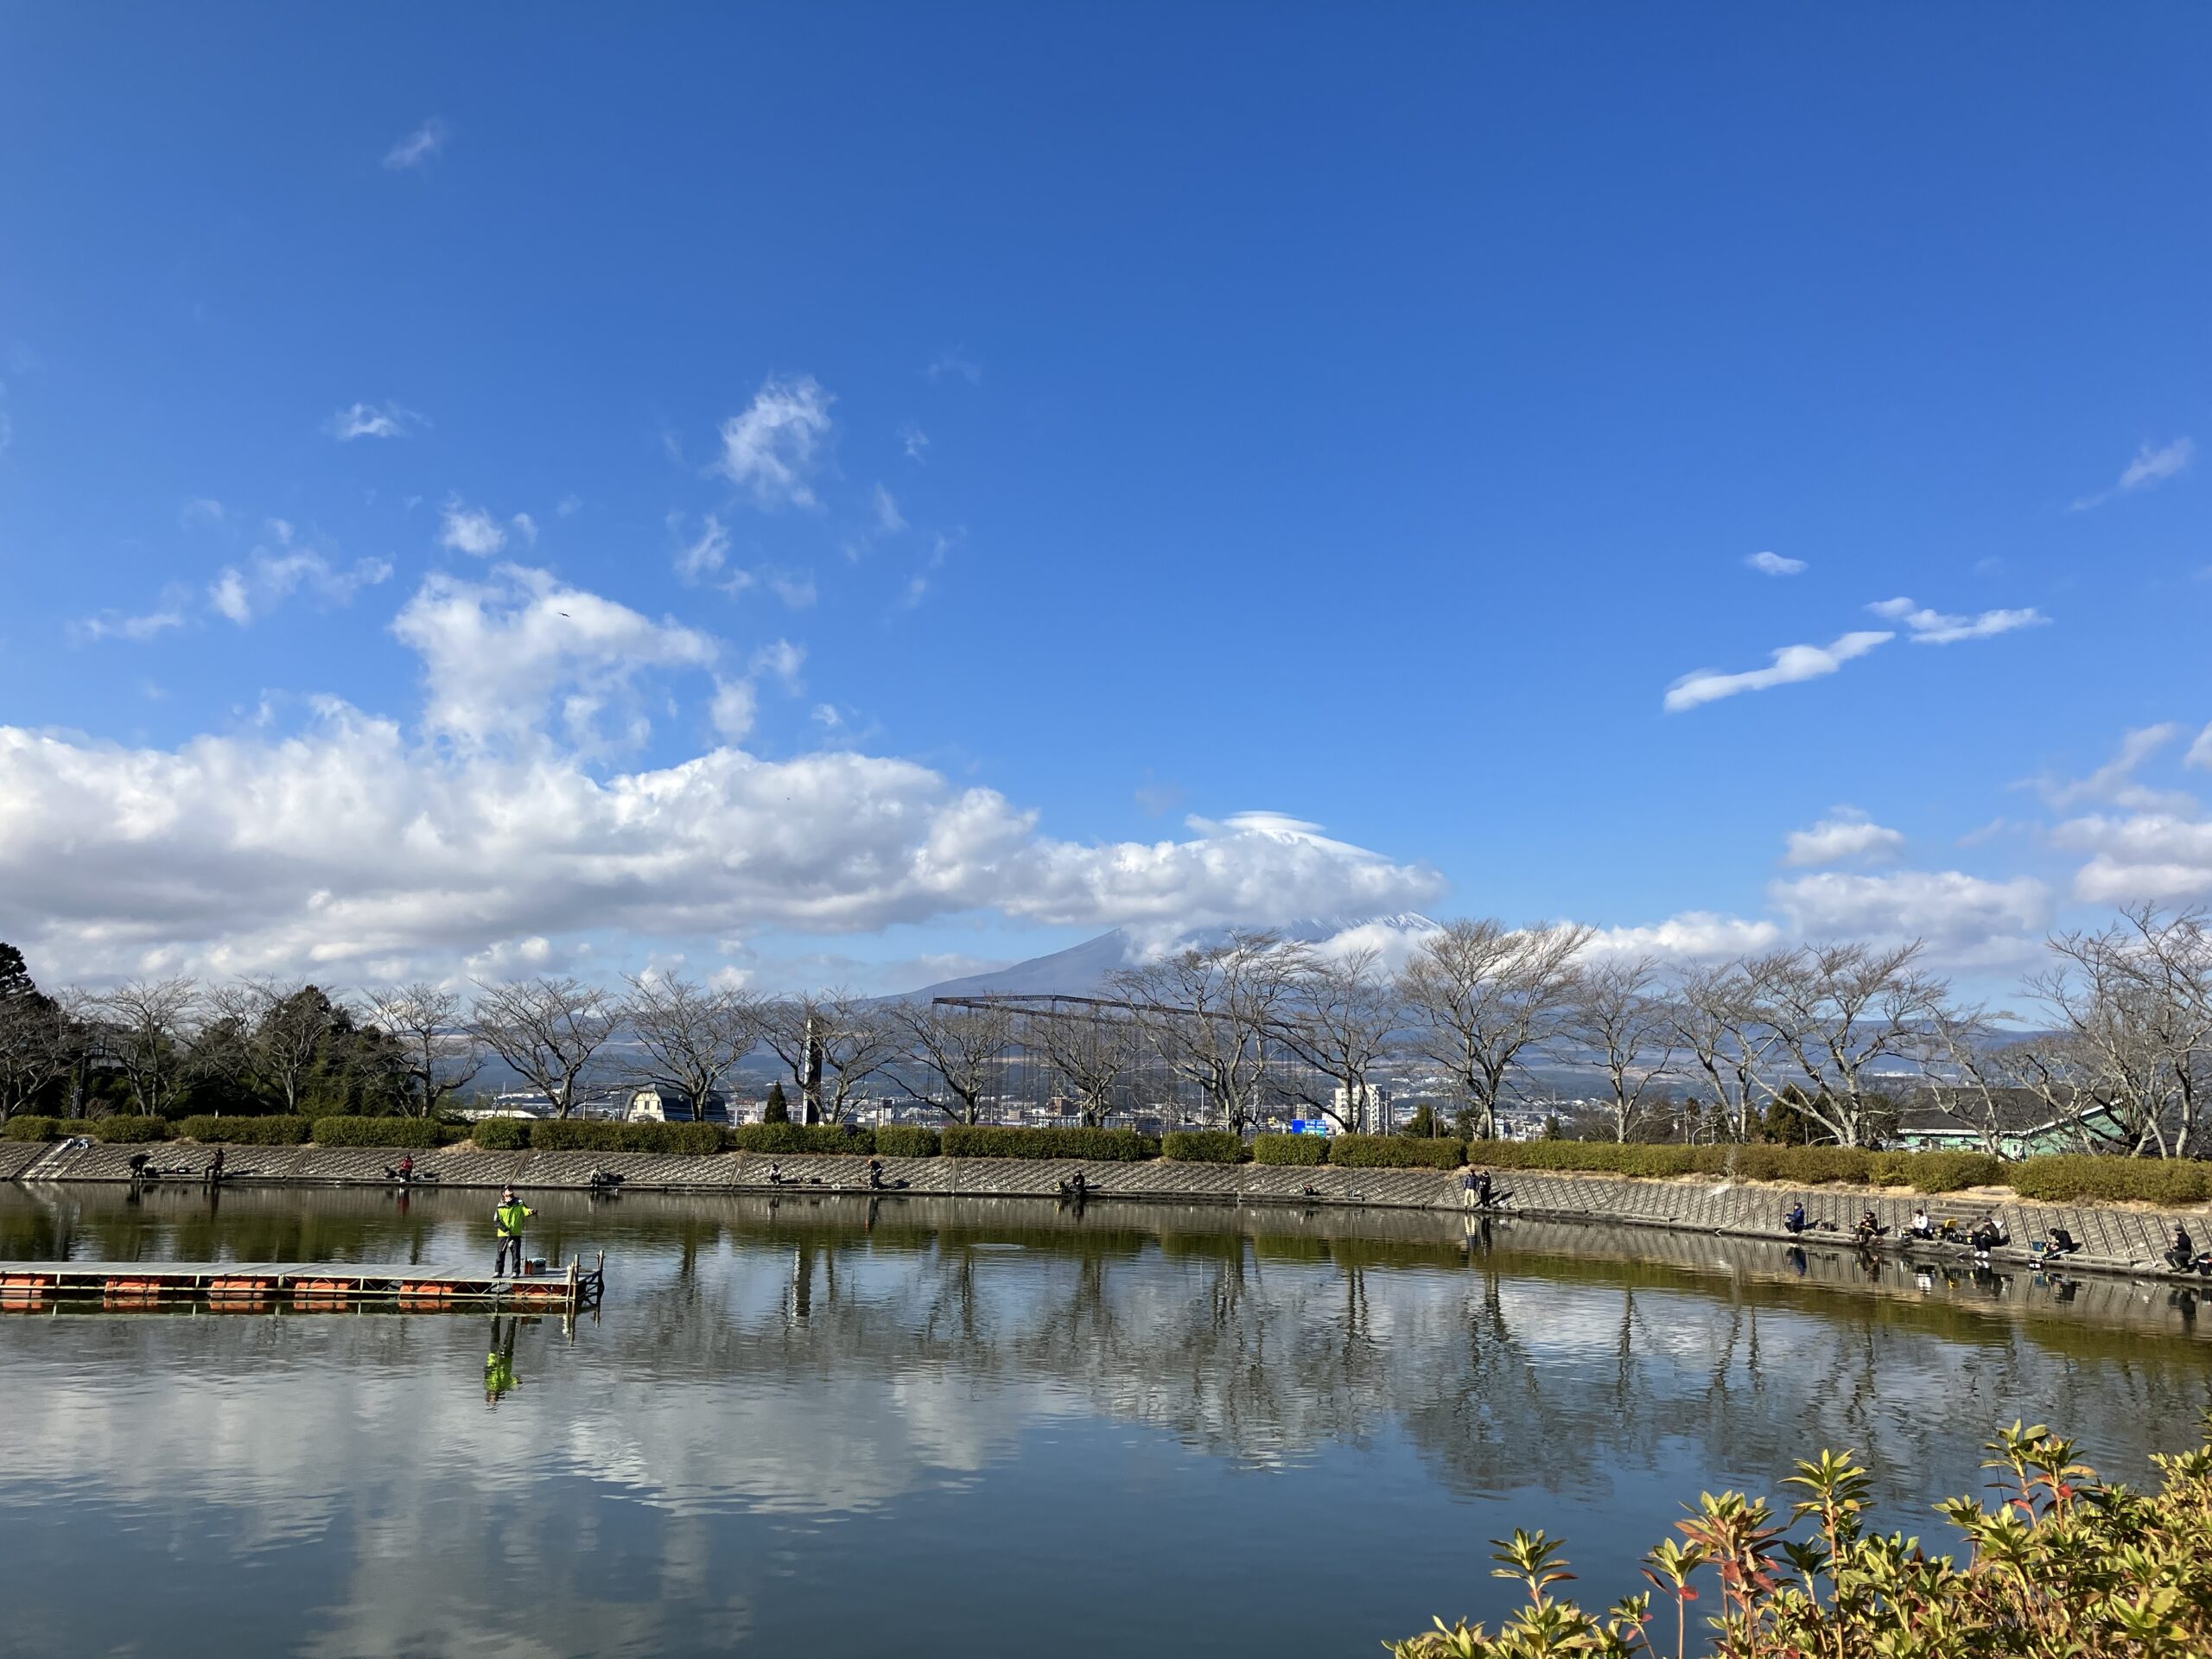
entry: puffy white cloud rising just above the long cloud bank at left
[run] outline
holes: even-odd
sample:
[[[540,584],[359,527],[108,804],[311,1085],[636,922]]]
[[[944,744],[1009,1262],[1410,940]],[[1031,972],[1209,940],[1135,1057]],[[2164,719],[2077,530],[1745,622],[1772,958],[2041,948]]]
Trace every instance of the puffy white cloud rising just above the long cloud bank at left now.
[[[392,622],[422,657],[425,726],[465,743],[518,739],[551,726],[599,748],[599,721],[624,712],[624,737],[648,730],[635,681],[655,668],[703,670],[719,644],[672,619],[653,622],[546,571],[500,564],[489,582],[429,575]]]

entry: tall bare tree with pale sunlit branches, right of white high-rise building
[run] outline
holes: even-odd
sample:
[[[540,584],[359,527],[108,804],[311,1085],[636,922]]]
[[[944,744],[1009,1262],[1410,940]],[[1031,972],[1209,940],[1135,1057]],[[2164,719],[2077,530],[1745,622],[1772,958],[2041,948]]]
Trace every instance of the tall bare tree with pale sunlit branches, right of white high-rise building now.
[[[1429,933],[1398,975],[1413,1048],[1451,1075],[1480,1139],[1498,1135],[1498,1102],[1522,1055],[1557,1035],[1588,940],[1577,925],[1460,920]]]

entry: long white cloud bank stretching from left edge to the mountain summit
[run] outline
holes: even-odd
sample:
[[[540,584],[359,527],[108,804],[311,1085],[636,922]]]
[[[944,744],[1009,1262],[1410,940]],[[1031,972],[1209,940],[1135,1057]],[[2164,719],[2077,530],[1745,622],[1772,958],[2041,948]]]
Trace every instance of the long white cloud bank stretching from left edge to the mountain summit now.
[[[310,730],[131,750],[0,728],[0,911],[55,975],[451,971],[577,936],[1285,920],[1431,900],[1440,878],[1254,814],[1084,845],[911,761],[717,748],[595,776],[453,754],[325,701]],[[604,956],[604,953],[602,953]]]

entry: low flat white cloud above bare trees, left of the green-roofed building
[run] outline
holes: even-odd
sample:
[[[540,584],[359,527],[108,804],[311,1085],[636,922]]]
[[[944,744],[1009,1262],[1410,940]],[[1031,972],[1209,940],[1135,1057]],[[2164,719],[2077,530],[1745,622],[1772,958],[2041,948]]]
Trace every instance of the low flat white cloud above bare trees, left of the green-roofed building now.
[[[1958,869],[1823,872],[1774,883],[1767,900],[1803,938],[1924,938],[1953,962],[2020,956],[2051,920],[2051,891],[2039,880],[1982,880]]]

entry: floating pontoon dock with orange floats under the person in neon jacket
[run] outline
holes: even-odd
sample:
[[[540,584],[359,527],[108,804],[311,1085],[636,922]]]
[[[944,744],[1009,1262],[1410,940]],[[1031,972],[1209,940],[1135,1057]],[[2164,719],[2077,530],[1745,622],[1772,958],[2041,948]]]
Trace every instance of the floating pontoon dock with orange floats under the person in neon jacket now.
[[[606,1256],[586,1267],[502,1279],[458,1267],[358,1261],[0,1261],[0,1312],[97,1301],[108,1310],[204,1303],[226,1312],[398,1307],[542,1307],[573,1312],[606,1287]]]

